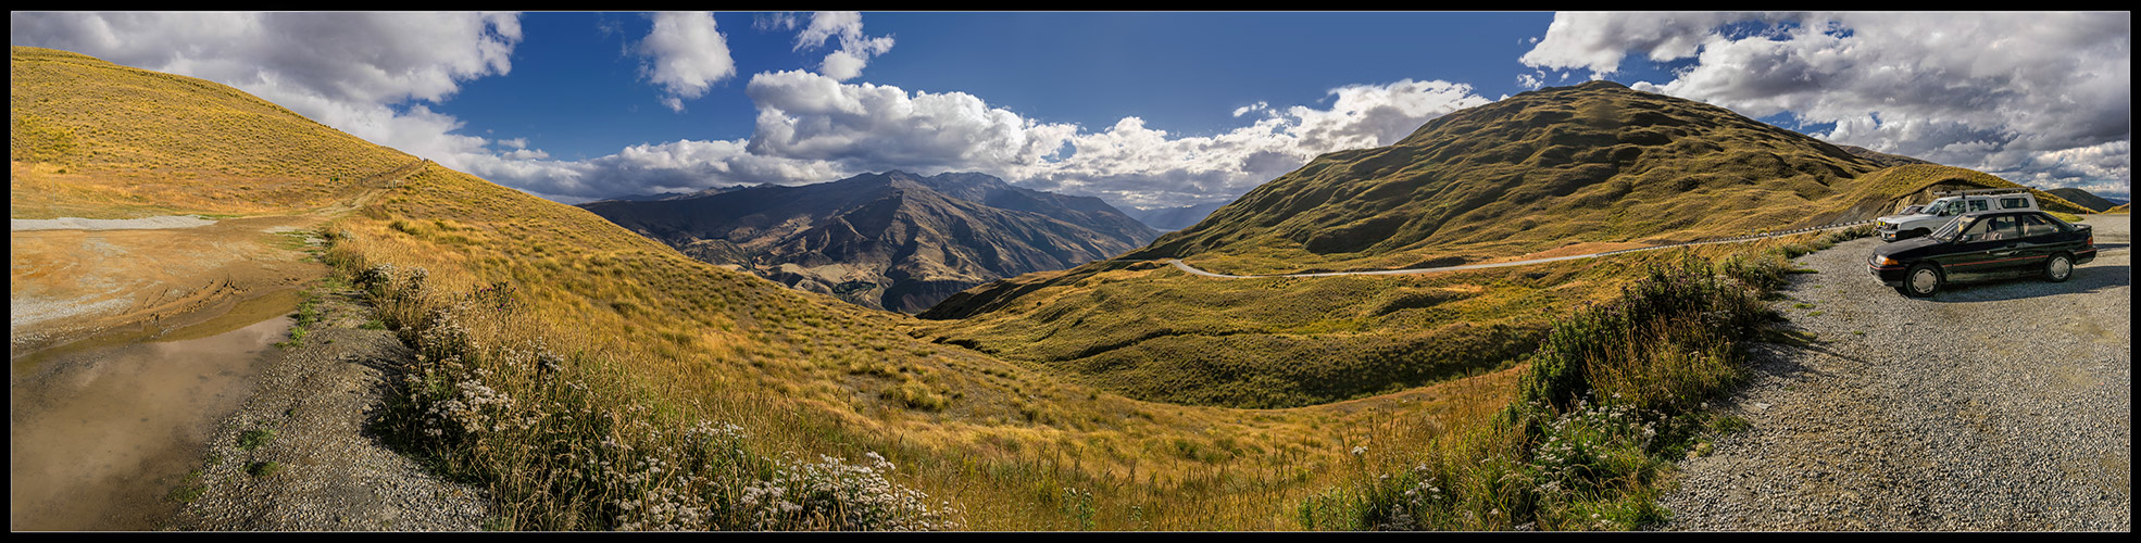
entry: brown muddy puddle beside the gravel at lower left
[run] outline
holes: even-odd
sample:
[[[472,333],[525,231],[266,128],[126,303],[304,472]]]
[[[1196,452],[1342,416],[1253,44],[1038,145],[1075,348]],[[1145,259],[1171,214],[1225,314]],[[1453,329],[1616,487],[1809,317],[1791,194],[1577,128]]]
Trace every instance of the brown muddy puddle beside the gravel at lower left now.
[[[107,333],[15,363],[13,530],[154,530],[199,468],[216,421],[287,340],[295,295],[246,299],[184,329]]]

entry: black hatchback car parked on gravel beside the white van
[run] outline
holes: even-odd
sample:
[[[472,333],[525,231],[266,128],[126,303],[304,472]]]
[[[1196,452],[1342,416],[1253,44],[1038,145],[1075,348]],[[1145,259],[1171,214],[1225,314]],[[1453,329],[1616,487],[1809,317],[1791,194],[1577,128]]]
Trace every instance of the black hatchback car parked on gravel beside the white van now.
[[[2075,276],[2075,265],[2094,259],[2090,224],[2068,224],[2045,212],[1976,212],[1931,235],[1876,248],[1867,272],[1897,293],[1929,297],[1950,280],[2038,276],[2062,282]]]

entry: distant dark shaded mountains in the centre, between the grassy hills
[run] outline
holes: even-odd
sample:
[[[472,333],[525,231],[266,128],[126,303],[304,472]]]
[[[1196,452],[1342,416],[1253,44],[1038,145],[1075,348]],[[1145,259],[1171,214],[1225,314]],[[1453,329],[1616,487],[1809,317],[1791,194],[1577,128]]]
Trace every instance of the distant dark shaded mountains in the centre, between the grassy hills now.
[[[981,173],[889,171],[580,207],[700,261],[901,312],[989,280],[1115,257],[1158,235],[1100,199]]]

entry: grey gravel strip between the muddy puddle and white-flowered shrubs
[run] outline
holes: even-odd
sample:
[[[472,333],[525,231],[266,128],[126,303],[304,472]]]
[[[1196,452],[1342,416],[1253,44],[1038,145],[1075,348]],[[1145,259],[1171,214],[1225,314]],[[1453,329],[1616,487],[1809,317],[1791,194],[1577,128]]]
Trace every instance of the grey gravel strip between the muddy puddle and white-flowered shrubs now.
[[[366,430],[413,353],[390,331],[362,329],[368,312],[349,295],[325,295],[321,325],[270,361],[257,393],[223,421],[199,498],[169,528],[435,532],[480,530],[490,517],[484,490],[439,481]],[[272,436],[242,445],[255,430]]]

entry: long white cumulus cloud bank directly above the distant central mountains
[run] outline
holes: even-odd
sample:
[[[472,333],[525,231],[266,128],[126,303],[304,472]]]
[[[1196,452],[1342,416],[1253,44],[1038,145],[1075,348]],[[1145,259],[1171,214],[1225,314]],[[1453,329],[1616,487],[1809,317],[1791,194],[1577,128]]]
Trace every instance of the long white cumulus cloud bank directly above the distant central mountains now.
[[[844,83],[805,71],[754,75],[745,94],[758,107],[749,139],[634,145],[572,162],[490,158],[471,171],[580,199],[814,184],[886,169],[981,171],[1118,205],[1186,205],[1237,197],[1317,154],[1390,145],[1432,118],[1486,103],[1447,81],[1345,86],[1330,90],[1330,107],[1265,105],[1246,126],[1186,137],[1141,118],[1083,128],[963,92]]]

